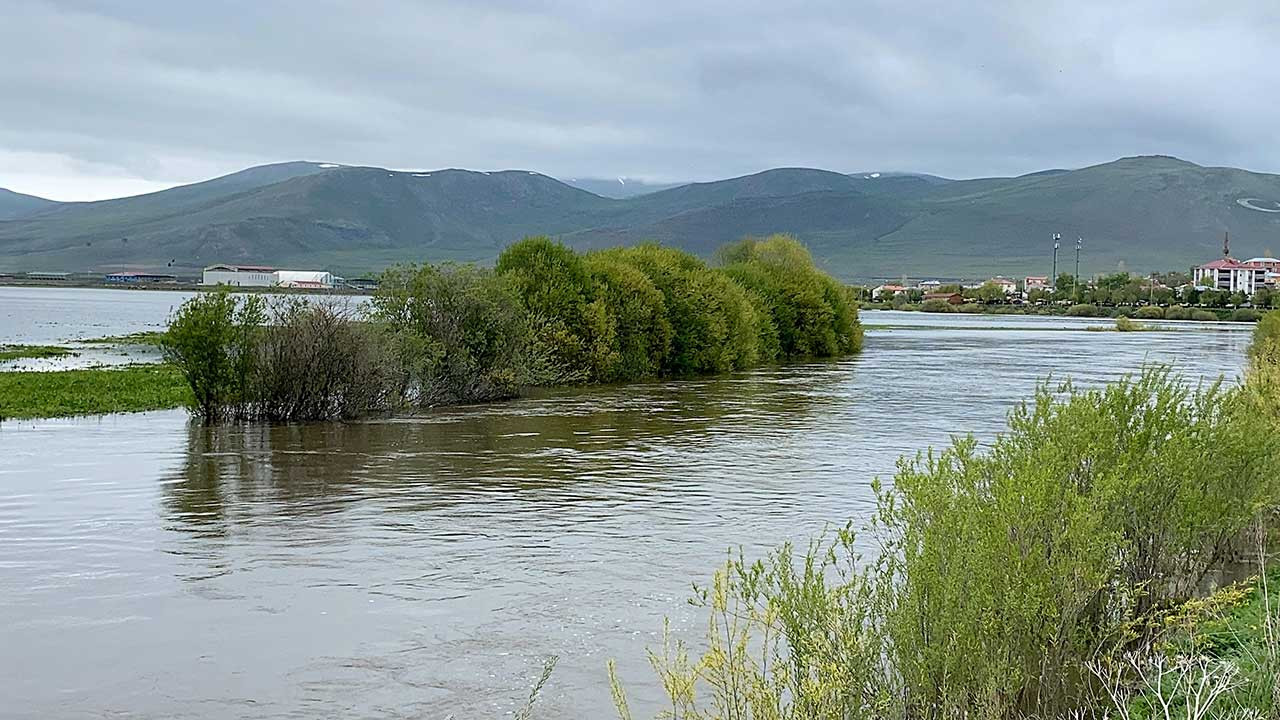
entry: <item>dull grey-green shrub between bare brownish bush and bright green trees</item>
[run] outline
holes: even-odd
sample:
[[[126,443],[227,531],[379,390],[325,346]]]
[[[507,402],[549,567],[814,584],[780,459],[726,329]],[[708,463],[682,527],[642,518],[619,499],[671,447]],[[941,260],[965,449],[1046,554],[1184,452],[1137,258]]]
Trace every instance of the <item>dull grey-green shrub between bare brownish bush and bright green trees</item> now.
[[[513,397],[529,377],[530,324],[506,277],[474,265],[393,268],[371,306],[390,337],[398,395],[413,405]]]

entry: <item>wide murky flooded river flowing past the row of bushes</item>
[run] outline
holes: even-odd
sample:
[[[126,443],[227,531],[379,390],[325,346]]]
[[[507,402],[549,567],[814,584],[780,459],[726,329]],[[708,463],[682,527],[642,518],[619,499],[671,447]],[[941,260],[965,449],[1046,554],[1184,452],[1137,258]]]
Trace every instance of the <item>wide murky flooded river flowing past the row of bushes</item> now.
[[[172,299],[132,295],[157,316],[102,302],[87,334],[164,322]],[[0,342],[84,322],[35,313]],[[900,455],[989,438],[1046,375],[1234,378],[1249,329],[864,322],[850,360],[419,419],[0,424],[0,715],[503,717],[548,655],[535,717],[611,717],[609,657],[648,711],[644,650],[663,616],[696,638],[689,583],[727,548],[865,519]]]

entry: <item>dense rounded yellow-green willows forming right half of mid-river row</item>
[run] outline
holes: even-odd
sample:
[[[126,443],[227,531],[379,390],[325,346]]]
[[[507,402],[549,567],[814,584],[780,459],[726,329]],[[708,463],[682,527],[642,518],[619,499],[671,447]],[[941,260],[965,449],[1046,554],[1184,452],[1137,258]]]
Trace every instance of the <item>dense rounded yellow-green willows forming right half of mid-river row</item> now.
[[[658,245],[586,255],[545,237],[512,245],[495,270],[529,318],[530,382],[686,377],[861,348],[851,291],[795,238],[746,240],[719,260]]]

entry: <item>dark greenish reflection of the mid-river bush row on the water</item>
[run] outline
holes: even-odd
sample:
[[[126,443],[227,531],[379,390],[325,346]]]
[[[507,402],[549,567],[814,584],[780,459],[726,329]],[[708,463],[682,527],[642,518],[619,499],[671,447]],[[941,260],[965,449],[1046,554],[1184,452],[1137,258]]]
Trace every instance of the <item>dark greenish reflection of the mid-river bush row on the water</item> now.
[[[640,486],[673,482],[664,465],[673,455],[719,438],[801,430],[815,411],[840,402],[833,389],[845,377],[838,364],[823,363],[561,389],[358,424],[191,424],[184,461],[164,483],[166,507],[175,528],[225,536],[237,523],[335,512],[370,498],[396,498],[388,510],[408,512],[477,495],[620,502]]]

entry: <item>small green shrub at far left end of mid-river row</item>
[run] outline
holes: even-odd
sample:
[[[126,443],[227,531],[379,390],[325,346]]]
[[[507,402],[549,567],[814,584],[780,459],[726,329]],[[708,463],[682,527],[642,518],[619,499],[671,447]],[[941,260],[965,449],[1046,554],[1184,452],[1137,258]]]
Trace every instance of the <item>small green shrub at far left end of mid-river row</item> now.
[[[197,295],[174,313],[160,348],[191,386],[195,415],[227,419],[244,402],[264,320],[261,296],[227,291]]]

